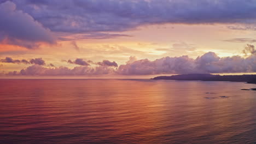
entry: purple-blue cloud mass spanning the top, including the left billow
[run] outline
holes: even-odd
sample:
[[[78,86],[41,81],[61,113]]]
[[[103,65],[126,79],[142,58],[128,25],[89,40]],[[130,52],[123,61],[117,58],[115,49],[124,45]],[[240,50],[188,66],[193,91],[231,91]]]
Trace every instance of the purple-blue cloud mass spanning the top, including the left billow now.
[[[230,29],[254,31],[255,3],[256,0],[1,0],[0,43],[34,49],[40,43],[54,44],[57,39],[131,37],[119,32],[163,23],[232,23]],[[79,35],[64,38],[72,34]],[[75,43],[73,46],[79,50]]]

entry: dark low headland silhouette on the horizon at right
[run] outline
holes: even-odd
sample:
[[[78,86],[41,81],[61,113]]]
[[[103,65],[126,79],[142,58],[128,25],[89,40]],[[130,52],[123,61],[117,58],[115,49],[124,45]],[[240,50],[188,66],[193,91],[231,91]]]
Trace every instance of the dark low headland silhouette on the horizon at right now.
[[[232,81],[256,84],[256,75],[184,74],[172,76],[157,76],[154,77],[153,80]]]

